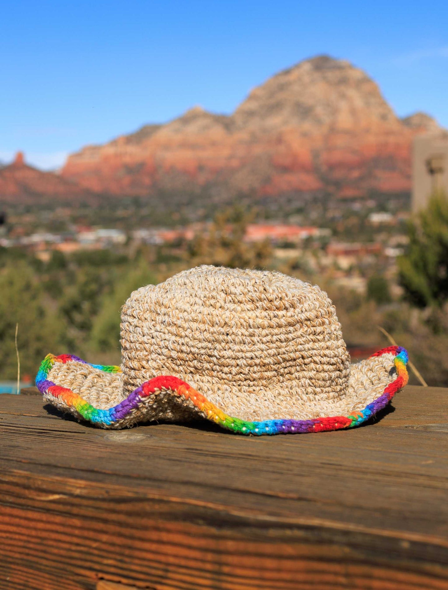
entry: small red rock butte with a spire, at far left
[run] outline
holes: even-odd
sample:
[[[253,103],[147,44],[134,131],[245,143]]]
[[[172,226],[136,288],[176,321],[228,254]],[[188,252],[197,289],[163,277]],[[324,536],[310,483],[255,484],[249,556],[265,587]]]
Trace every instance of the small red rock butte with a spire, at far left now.
[[[0,168],[0,201],[32,203],[45,198],[66,202],[96,199],[90,191],[68,179],[28,166],[22,152],[17,153],[12,164]]]

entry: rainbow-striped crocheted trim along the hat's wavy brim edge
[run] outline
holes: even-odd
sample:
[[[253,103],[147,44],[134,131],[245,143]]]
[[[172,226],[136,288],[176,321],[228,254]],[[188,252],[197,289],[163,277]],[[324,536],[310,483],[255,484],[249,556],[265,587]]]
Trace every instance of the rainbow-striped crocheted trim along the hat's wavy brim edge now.
[[[330,418],[314,418],[309,420],[295,419],[278,419],[265,420],[262,422],[248,422],[240,418],[233,418],[225,414],[221,409],[212,404],[205,396],[193,389],[185,381],[173,376],[160,376],[146,381],[134,389],[120,404],[108,409],[97,409],[89,404],[80,395],[75,394],[71,389],[56,385],[48,381],[50,373],[55,362],[70,363],[81,362],[86,365],[85,360],[73,355],[47,355],[42,361],[39,372],[36,376],[36,385],[42,395],[48,401],[51,401],[57,407],[67,409],[80,419],[84,419],[92,424],[102,428],[121,428],[132,423],[132,414],[138,411],[143,405],[147,404],[148,398],[156,396],[160,392],[183,398],[182,401],[189,402],[197,413],[215,422],[220,427],[236,432],[238,434],[298,434],[304,432],[322,432],[329,430],[341,430],[343,428],[353,428],[363,424],[366,420],[373,417],[381,409],[386,407],[393,396],[403,388],[407,381],[406,364],[408,360],[407,351],[401,346],[389,346],[383,350],[375,352],[373,356],[381,356],[392,353],[397,377],[390,382],[383,394],[368,404],[363,411],[354,412],[350,416],[334,416]],[[91,365],[95,369],[100,369],[107,373],[121,372],[118,366]],[[180,401],[180,400],[179,400]]]

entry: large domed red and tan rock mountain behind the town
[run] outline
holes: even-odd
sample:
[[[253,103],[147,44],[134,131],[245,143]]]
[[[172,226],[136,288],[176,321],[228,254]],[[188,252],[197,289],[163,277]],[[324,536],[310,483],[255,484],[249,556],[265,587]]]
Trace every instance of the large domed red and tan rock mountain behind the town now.
[[[321,56],[276,74],[230,116],[194,107],[87,146],[62,177],[111,195],[409,191],[411,141],[434,126],[423,113],[398,119],[367,74]]]

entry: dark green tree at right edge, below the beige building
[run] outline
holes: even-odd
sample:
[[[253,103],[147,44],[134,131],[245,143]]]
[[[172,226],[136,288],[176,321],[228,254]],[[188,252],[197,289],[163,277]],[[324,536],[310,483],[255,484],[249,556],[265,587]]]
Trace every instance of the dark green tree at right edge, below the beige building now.
[[[417,307],[442,307],[448,299],[448,199],[434,194],[410,222],[409,247],[398,259],[406,299]]]

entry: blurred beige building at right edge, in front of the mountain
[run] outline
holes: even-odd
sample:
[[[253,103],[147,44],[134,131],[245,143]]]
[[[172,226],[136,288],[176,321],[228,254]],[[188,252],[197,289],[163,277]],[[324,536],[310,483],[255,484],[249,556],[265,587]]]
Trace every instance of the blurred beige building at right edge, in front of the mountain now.
[[[414,139],[412,163],[412,211],[423,209],[433,192],[448,194],[448,132]]]

